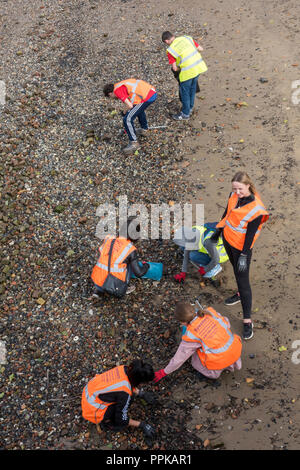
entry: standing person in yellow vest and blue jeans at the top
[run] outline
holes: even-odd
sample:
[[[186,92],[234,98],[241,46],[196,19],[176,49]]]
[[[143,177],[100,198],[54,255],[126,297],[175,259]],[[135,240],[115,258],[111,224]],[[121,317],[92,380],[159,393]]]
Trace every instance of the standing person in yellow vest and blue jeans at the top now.
[[[191,36],[176,38],[170,31],[162,34],[162,41],[169,46],[167,54],[173,72],[179,71],[182,109],[179,114],[173,115],[173,119],[187,120],[194,107],[198,77],[207,71],[207,65],[200,54],[203,48]]]

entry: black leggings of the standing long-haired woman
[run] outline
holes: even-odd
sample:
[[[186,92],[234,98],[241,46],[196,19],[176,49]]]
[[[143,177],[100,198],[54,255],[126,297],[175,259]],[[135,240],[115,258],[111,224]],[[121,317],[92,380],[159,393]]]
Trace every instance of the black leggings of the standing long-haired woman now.
[[[229,261],[232,264],[235,280],[238,286],[242,308],[243,308],[243,317],[244,319],[251,318],[251,309],[252,309],[252,291],[249,280],[249,270],[250,262],[252,257],[252,250],[249,251],[247,256],[247,269],[244,272],[238,271],[238,259],[241,254],[240,250],[237,250],[225,240],[223,236],[223,244],[228,255]]]

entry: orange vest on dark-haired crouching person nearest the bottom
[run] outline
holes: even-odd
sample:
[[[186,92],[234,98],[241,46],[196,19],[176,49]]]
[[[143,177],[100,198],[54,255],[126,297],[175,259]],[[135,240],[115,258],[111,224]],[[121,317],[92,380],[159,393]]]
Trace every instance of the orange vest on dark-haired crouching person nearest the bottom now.
[[[99,394],[109,392],[126,392],[132,395],[132,388],[124,370],[125,366],[114,367],[103,374],[96,375],[84,387],[81,398],[82,416],[92,423],[100,423],[107,408],[115,402],[104,402]]]

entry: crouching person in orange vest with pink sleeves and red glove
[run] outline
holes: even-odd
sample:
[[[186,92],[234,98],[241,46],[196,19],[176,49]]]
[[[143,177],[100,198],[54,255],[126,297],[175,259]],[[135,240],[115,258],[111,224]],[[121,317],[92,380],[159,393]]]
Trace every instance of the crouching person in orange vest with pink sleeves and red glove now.
[[[195,309],[186,302],[176,304],[175,317],[185,331],[169,364],[155,372],[155,383],[181,367],[189,357],[200,379],[217,379],[223,370],[241,369],[242,341],[231,332],[228,318],[212,307]]]

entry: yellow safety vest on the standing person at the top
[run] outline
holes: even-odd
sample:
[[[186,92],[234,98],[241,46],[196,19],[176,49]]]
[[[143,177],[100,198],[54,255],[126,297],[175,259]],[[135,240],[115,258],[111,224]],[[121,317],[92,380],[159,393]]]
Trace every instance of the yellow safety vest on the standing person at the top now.
[[[195,78],[207,70],[206,63],[190,36],[175,38],[167,52],[176,59],[176,65],[180,67],[180,82]]]

